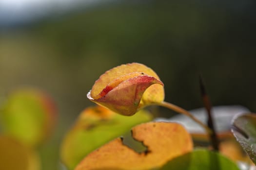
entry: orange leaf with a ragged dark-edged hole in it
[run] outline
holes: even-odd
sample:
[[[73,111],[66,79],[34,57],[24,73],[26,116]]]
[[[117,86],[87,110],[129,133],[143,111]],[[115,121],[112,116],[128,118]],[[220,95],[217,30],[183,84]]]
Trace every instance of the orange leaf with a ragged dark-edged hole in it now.
[[[135,140],[143,142],[147,151],[137,153],[117,138],[90,153],[75,170],[147,170],[193,150],[191,136],[177,123],[140,124],[132,129],[132,135]]]

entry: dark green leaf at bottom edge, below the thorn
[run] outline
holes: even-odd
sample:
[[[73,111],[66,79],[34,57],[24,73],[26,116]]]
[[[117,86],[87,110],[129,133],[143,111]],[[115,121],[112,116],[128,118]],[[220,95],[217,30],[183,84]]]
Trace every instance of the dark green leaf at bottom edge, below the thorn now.
[[[227,157],[209,150],[194,150],[178,156],[159,170],[239,170]]]

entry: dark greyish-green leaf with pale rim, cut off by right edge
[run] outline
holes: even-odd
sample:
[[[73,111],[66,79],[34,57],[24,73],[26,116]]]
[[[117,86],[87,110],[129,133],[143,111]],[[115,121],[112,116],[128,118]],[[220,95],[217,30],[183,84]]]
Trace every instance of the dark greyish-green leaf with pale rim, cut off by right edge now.
[[[232,132],[236,140],[256,164],[256,115],[240,115],[233,120],[232,124]]]

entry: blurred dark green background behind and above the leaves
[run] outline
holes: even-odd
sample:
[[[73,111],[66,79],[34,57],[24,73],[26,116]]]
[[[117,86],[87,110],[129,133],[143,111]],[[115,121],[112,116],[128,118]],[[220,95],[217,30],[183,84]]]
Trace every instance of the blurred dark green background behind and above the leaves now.
[[[184,109],[203,105],[201,74],[213,105],[256,112],[255,10],[254,0],[1,0],[0,103],[20,86],[55,100],[43,170],[59,167],[59,142],[93,105],[86,94],[99,75],[121,64],[154,69],[165,100]]]

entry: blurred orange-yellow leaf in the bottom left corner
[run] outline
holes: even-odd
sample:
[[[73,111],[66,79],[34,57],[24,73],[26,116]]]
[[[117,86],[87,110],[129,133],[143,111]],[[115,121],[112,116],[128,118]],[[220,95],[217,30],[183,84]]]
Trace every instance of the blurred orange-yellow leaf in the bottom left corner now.
[[[25,145],[0,136],[0,170],[39,170],[39,158]]]

